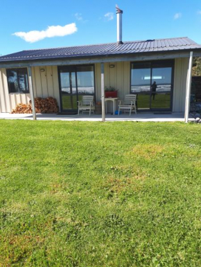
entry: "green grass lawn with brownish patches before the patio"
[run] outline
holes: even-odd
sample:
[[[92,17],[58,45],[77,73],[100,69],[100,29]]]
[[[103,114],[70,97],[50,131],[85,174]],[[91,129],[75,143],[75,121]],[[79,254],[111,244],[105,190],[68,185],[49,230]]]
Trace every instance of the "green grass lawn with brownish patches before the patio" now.
[[[200,125],[0,120],[0,149],[0,266],[200,266]]]

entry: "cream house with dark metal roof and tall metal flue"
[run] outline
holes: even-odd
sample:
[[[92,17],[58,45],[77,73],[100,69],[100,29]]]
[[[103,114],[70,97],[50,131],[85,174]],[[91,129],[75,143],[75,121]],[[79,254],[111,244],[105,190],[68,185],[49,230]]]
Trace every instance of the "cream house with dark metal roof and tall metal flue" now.
[[[105,103],[104,88],[113,86],[121,100],[128,93],[137,94],[137,111],[185,111],[188,121],[192,59],[201,55],[201,46],[188,37],[123,42],[122,13],[116,9],[115,43],[1,56],[0,112],[35,97],[52,96],[60,112],[75,113],[82,95]]]

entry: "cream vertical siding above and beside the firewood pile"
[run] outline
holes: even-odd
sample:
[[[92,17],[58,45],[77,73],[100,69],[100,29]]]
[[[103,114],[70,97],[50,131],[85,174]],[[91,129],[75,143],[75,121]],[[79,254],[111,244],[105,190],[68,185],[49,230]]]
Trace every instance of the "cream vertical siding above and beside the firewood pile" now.
[[[40,71],[40,69],[44,71]],[[52,96],[58,101],[60,107],[60,91],[57,66],[33,67],[33,91],[35,98]],[[9,93],[6,77],[6,68],[0,68],[0,112],[10,112],[19,103],[28,104],[29,93]]]

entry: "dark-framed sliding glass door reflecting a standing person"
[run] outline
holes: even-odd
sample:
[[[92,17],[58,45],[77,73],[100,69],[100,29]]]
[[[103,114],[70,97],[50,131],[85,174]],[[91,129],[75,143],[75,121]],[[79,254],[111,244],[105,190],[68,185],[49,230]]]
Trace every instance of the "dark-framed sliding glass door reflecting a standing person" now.
[[[131,93],[137,94],[139,111],[171,111],[173,61],[131,64]]]

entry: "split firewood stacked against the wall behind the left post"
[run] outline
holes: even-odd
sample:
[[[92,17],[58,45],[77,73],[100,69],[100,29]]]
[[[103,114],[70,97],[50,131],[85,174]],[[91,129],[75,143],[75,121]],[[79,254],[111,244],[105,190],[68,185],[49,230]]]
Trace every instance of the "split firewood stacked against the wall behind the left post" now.
[[[58,113],[58,102],[55,98],[35,98],[36,113]],[[29,104],[17,104],[11,113],[32,113],[31,100]]]

